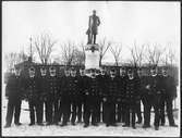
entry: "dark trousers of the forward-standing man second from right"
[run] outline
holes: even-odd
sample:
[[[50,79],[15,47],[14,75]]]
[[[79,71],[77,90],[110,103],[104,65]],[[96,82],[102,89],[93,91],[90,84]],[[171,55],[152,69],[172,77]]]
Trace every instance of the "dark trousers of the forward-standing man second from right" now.
[[[160,105],[160,99],[161,96],[153,96],[153,95],[146,95],[143,98],[143,104],[144,104],[144,125],[149,126],[150,125],[150,110],[151,106],[154,106],[155,112],[155,121],[154,125],[159,126],[159,105]]]

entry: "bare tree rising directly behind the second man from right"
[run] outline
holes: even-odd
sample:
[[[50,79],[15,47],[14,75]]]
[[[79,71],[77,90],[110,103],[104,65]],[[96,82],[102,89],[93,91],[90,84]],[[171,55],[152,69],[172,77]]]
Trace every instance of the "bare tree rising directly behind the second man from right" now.
[[[158,65],[161,61],[161,55],[165,52],[166,48],[162,48],[159,43],[147,43],[146,59],[149,65]]]

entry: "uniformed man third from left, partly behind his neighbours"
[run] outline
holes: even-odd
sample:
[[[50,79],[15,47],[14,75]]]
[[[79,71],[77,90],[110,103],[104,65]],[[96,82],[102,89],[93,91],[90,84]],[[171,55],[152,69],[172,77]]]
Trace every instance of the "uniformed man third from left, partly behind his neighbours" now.
[[[40,104],[41,104],[41,122],[44,118],[44,104],[45,104],[45,116],[46,116],[46,123],[48,123],[48,102],[47,102],[47,97],[48,97],[48,75],[47,75],[47,70],[46,66],[40,67],[40,91],[41,91],[41,97],[40,97]]]

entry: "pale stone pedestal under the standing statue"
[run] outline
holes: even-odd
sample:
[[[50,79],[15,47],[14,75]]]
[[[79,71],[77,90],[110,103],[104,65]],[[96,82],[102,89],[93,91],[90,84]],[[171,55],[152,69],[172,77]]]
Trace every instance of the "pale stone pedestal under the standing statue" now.
[[[85,68],[98,68],[99,70],[99,46],[87,45],[85,49]]]

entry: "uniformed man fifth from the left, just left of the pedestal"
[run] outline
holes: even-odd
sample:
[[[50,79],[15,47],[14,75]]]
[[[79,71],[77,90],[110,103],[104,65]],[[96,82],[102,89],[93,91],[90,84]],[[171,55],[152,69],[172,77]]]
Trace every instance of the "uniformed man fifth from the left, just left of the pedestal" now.
[[[70,105],[70,70],[65,67],[64,70],[64,76],[61,78],[61,109],[62,109],[62,124],[61,126],[68,125],[68,122],[70,120],[71,114],[71,105]]]

